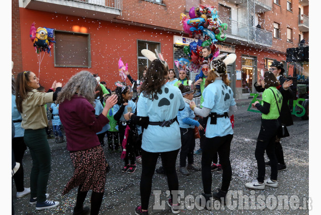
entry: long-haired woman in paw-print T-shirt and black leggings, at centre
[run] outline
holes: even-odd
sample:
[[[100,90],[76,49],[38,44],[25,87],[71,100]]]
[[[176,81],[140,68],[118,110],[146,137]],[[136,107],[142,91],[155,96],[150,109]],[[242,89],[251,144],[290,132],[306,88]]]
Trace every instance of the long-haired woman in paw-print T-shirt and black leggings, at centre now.
[[[159,156],[161,156],[171,192],[167,204],[173,213],[179,212],[177,196],[174,198],[172,195],[172,191],[178,190],[175,164],[181,146],[176,116],[178,110],[185,108],[185,101],[178,88],[165,85],[168,77],[166,62],[158,59],[151,59],[151,61],[145,81],[141,85],[142,93],[137,102],[137,116],[133,113],[124,114],[125,119],[130,118],[135,124],[144,127],[140,188],[142,204],[135,208],[135,214],[139,215],[148,214],[152,179]]]

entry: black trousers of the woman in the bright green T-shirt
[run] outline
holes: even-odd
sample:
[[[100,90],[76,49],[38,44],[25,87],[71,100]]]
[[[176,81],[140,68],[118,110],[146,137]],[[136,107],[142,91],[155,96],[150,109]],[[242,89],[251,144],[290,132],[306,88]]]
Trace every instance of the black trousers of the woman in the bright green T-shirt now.
[[[261,129],[257,137],[255,158],[257,162],[257,181],[264,182],[265,177],[265,161],[264,151],[270,159],[271,180],[278,179],[278,160],[276,157],[276,135],[279,127],[277,119],[261,119]]]

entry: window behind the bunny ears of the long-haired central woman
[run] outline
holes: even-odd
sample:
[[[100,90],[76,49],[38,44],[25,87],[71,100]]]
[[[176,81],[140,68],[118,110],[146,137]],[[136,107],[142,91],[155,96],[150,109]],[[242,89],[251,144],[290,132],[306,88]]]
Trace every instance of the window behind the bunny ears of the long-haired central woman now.
[[[149,41],[142,41],[142,40],[137,41],[137,50],[138,50],[138,55],[137,55],[138,56],[137,57],[138,77],[137,78],[138,79],[142,79],[145,66],[148,67],[152,63],[144,55],[142,55],[143,49],[148,49],[154,53],[155,53],[155,49],[161,51],[160,44],[157,42],[149,42]],[[155,53],[155,55],[156,55],[156,53]]]

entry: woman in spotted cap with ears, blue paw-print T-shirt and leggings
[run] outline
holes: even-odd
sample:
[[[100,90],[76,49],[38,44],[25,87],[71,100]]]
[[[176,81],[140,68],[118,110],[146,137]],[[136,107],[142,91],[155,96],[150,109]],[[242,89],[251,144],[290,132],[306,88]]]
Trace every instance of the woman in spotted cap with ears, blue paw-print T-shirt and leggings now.
[[[232,167],[230,161],[230,149],[233,139],[233,128],[229,116],[236,111],[236,102],[233,92],[228,84],[226,66],[221,60],[213,60],[210,64],[211,70],[206,78],[206,88],[203,91],[203,108],[196,108],[194,102],[190,103],[191,109],[199,116],[208,117],[205,132],[205,141],[202,146],[202,181],[205,202],[202,199],[195,203],[200,206],[207,205],[211,197],[221,201],[230,187],[232,179]],[[213,154],[218,153],[219,162],[223,169],[222,186],[216,193],[211,193],[212,174],[211,162]],[[206,206],[205,206],[206,207]],[[206,207],[207,208],[207,207]],[[210,208],[207,208],[210,209]]]

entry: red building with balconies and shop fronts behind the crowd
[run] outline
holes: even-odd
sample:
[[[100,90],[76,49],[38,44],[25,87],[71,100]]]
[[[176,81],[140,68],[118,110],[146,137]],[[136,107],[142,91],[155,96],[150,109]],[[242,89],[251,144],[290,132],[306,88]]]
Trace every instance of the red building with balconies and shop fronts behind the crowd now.
[[[146,48],[160,50],[173,68],[174,60],[187,57],[182,48],[188,44],[180,40],[188,34],[182,31],[179,15],[199,4],[217,7],[228,25],[227,39],[218,47],[222,53],[237,55],[227,68],[236,98],[248,98],[255,91],[257,71],[273,60],[284,62],[293,73],[285,62],[286,49],[298,47],[303,38],[308,45],[308,0],[13,0],[13,72],[34,71],[48,89],[55,79],[66,83],[76,72],[88,70],[114,89],[120,80],[119,58],[139,79],[150,63],[140,52]],[[43,56],[39,73],[29,37],[33,22],[36,28],[55,28],[57,41],[52,56]],[[258,23],[261,29],[255,27]]]

